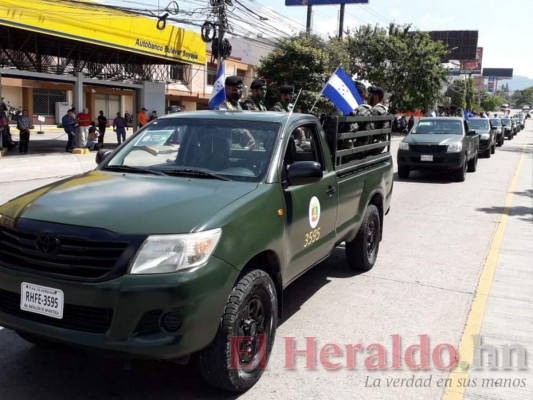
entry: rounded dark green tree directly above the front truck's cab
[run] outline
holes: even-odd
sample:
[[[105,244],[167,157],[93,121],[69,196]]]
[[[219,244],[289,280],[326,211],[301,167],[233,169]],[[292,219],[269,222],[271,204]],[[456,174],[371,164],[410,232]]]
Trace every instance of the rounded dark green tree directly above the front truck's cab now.
[[[310,112],[331,73],[339,64],[348,63],[348,53],[342,41],[325,41],[318,36],[301,33],[279,42],[278,47],[261,59],[257,68],[259,76],[269,82],[267,107],[279,99],[279,87],[294,85],[302,89],[296,109]],[[332,108],[325,99],[317,109]]]

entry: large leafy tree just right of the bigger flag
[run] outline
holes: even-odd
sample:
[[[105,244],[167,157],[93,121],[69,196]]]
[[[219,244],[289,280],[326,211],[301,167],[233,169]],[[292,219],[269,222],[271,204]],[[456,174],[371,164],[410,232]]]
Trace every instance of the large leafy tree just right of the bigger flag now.
[[[346,41],[350,72],[392,93],[391,112],[425,113],[440,98],[447,78],[441,60],[448,50],[428,33],[410,31],[409,25],[390,24],[388,31],[366,25],[348,31]]]

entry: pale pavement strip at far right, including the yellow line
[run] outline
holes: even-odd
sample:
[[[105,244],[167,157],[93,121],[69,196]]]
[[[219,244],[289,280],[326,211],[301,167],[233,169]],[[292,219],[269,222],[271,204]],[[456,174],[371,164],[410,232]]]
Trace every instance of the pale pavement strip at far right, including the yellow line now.
[[[445,400],[533,398],[531,123],[519,135],[526,140],[459,346],[473,358],[450,375]]]

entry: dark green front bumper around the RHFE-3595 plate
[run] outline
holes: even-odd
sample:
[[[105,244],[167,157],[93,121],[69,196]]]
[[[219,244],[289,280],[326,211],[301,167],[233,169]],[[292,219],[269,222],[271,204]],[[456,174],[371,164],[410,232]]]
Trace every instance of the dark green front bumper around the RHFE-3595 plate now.
[[[238,271],[211,257],[191,271],[65,282],[0,267],[0,325],[132,358],[173,359],[215,337]],[[61,319],[21,309],[21,285],[59,289]]]

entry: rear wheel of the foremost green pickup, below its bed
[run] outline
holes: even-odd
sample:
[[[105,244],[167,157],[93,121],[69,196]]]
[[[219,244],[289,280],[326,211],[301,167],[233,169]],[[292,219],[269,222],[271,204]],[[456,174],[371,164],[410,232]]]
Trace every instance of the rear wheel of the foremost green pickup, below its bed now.
[[[380,239],[379,211],[375,205],[369,204],[357,236],[346,242],[346,260],[350,269],[358,272],[371,270],[378,257]]]

